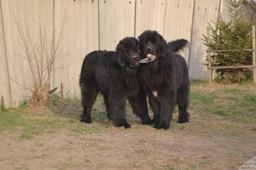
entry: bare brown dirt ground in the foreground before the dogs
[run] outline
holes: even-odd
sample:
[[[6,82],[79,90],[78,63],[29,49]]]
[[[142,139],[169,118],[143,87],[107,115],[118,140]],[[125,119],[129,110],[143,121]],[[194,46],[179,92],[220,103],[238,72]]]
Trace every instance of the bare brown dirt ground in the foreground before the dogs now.
[[[192,90],[223,87],[201,85]],[[255,93],[255,86],[251,90]],[[169,130],[156,130],[130,117],[131,129],[115,128],[108,120],[93,121],[89,126],[101,127],[95,134],[63,128],[17,140],[19,130],[3,132],[0,169],[237,169],[256,155],[256,133],[251,130],[255,124],[189,112],[189,123],[172,122]]]

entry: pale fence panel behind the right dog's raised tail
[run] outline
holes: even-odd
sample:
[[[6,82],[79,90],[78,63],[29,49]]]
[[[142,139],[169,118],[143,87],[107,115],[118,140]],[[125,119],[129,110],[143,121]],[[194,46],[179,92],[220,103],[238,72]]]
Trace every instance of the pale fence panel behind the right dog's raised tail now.
[[[164,39],[172,41],[175,39],[191,40],[194,1],[172,0],[166,1],[164,19]],[[180,52],[188,63],[189,48]]]

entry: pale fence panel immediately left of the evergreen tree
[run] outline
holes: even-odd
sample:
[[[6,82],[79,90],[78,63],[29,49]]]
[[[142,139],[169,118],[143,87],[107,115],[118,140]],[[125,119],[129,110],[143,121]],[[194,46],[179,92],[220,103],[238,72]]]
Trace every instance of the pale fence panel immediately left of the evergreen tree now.
[[[189,76],[190,79],[208,79],[206,63],[207,46],[203,44],[203,34],[207,35],[206,27],[208,22],[212,25],[211,20],[218,17],[220,0],[212,0],[211,3],[205,0],[196,0],[193,34],[191,41],[191,52],[189,58]]]

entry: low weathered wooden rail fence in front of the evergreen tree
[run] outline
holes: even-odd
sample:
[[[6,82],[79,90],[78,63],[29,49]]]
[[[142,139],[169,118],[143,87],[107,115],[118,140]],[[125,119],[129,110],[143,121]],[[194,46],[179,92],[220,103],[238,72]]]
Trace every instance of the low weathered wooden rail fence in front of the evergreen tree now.
[[[232,50],[211,50],[210,49],[210,27],[207,26],[207,44],[208,49],[207,52],[207,60],[208,60],[208,75],[209,75],[209,81],[212,81],[212,74],[214,69],[222,69],[222,68],[252,68],[253,72],[253,83],[256,83],[256,48],[255,48],[255,26],[252,26],[252,49],[246,49],[246,50],[238,50],[238,49],[232,49]],[[252,65],[245,65],[245,66],[212,66],[211,61],[211,52],[229,52],[229,51],[252,51]]]

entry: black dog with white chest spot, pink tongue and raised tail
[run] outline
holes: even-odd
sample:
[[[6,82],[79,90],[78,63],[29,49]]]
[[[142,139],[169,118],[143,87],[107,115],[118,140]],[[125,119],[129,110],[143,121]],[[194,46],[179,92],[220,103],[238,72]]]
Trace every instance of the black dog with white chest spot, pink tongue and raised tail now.
[[[181,39],[166,43],[156,31],[147,30],[139,36],[137,50],[142,58],[153,61],[140,66],[140,78],[149,104],[154,111],[153,121],[157,129],[169,129],[172,112],[179,106],[178,123],[189,121],[189,77],[185,59],[175,53],[187,46]],[[146,59],[145,59],[146,60]]]

